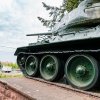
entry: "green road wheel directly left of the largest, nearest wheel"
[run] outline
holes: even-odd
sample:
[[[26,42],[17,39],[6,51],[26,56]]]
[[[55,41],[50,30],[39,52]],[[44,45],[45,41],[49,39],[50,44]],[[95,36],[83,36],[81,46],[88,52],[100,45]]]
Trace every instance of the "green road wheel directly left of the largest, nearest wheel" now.
[[[58,57],[46,55],[40,63],[40,74],[47,81],[57,81],[64,75],[64,68]]]

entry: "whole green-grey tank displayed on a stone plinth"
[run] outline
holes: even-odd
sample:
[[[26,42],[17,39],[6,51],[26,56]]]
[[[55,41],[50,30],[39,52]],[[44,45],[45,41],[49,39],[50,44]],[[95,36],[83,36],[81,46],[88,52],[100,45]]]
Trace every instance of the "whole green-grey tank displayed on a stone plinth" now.
[[[51,32],[27,36],[38,36],[38,40],[17,48],[14,54],[25,76],[40,75],[51,82],[65,76],[72,87],[82,90],[98,86],[100,0],[83,0]]]

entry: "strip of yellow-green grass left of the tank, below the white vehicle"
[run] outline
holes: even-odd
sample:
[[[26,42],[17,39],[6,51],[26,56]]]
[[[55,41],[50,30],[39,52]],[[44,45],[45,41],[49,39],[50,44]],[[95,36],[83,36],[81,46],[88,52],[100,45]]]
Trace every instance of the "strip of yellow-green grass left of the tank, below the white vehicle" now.
[[[14,78],[14,77],[24,77],[24,75],[22,73],[11,74],[11,73],[0,72],[0,78]]]

